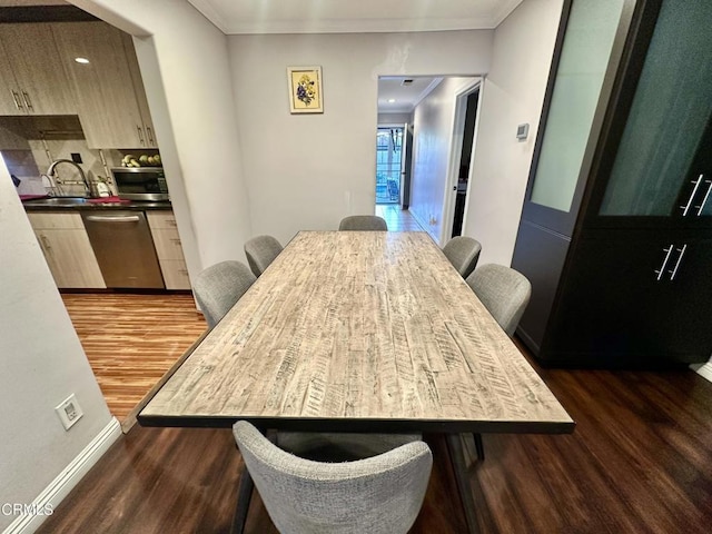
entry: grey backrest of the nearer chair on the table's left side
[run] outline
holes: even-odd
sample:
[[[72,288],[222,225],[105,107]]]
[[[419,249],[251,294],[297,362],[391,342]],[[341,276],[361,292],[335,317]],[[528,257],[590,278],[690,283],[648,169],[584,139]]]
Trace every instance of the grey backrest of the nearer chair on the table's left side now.
[[[195,279],[196,300],[212,328],[257,278],[249,268],[231,259],[211,265]]]

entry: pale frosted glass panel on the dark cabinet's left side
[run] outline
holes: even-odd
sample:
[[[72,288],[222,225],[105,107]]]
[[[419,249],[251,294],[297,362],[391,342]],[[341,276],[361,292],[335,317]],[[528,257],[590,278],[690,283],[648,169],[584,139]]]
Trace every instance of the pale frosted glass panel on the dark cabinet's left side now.
[[[571,7],[532,187],[532,202],[568,211],[624,0]]]

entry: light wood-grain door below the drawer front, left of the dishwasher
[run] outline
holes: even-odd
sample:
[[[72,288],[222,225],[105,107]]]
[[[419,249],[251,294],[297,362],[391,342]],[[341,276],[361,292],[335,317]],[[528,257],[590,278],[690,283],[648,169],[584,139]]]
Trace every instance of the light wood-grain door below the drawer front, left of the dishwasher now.
[[[57,287],[107,287],[83,229],[40,229],[36,235]]]

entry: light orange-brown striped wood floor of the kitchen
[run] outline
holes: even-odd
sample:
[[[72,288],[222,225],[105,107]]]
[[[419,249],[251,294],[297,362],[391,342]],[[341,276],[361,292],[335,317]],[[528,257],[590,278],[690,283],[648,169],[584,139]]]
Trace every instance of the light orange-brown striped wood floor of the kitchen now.
[[[189,294],[62,294],[62,300],[121,423],[207,328]]]

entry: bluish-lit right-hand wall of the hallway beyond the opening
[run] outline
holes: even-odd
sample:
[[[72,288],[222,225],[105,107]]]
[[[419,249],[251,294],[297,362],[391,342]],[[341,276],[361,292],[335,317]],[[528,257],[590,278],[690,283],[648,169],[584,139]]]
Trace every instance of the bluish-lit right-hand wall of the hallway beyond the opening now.
[[[474,81],[473,78],[445,78],[414,112],[409,211],[438,244],[443,233],[445,195],[449,190],[456,98]],[[459,152],[459,147],[456,151]]]

